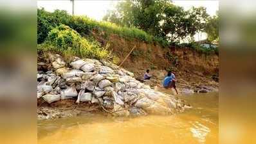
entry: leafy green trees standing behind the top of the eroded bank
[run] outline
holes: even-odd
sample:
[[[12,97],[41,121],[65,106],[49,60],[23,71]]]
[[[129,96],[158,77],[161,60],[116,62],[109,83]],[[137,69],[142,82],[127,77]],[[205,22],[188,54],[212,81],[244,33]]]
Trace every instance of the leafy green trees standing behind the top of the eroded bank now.
[[[183,10],[169,0],[120,1],[116,10],[109,11],[104,20],[120,26],[138,28],[158,36],[163,42],[178,42],[184,38],[194,39],[203,31],[210,16],[203,7]]]

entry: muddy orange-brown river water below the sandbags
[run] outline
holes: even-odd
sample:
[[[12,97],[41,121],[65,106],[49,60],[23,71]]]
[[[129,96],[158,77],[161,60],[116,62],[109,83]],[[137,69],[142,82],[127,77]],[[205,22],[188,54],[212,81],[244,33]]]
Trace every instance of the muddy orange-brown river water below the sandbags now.
[[[217,93],[181,96],[193,107],[170,116],[88,115],[38,122],[39,144],[218,143]]]

